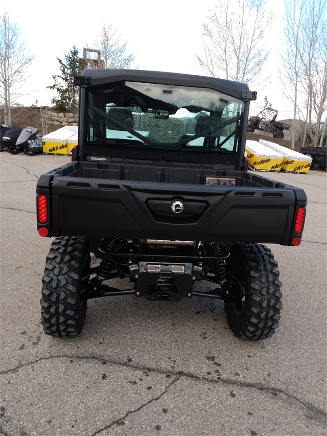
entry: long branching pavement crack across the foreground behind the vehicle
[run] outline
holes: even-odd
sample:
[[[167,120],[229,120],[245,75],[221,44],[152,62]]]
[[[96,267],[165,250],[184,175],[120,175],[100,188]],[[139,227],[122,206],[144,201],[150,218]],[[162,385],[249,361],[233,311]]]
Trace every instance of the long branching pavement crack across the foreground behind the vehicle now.
[[[198,376],[198,375],[193,374],[193,373],[186,373],[186,372],[183,372],[183,371],[160,370],[160,369],[157,369],[157,368],[151,368],[150,366],[135,365],[135,364],[132,364],[132,363],[127,363],[125,361],[122,362],[122,361],[118,361],[118,360],[110,360],[110,359],[108,359],[106,357],[103,357],[103,356],[102,357],[98,357],[98,356],[56,355],[56,356],[40,357],[39,359],[33,360],[31,362],[22,363],[21,365],[18,365],[15,368],[11,368],[9,370],[2,371],[2,372],[0,372],[0,375],[5,375],[5,374],[17,372],[19,369],[24,368],[25,366],[30,366],[30,365],[33,365],[35,363],[41,362],[43,360],[61,359],[61,358],[65,358],[65,359],[81,359],[81,360],[93,359],[93,360],[97,360],[99,362],[102,362],[105,359],[107,361],[107,363],[110,363],[112,365],[125,366],[127,368],[130,368],[130,369],[133,369],[133,370],[136,370],[136,371],[145,371],[145,370],[148,370],[150,372],[155,372],[157,374],[165,374],[165,375],[170,374],[172,376],[176,376],[176,379],[174,379],[173,382],[176,382],[181,377],[186,377],[186,378],[191,378],[191,379],[194,379],[194,380],[205,381],[207,383],[212,383],[212,384],[224,383],[224,384],[237,385],[237,386],[245,387],[245,388],[258,389],[259,391],[264,391],[264,392],[283,394],[286,397],[291,398],[291,399],[297,401],[298,403],[302,404],[303,406],[305,406],[306,408],[311,410],[314,414],[320,415],[320,416],[322,416],[324,418],[327,417],[327,412],[325,412],[324,410],[320,409],[319,407],[315,406],[314,404],[310,403],[309,401],[301,400],[300,398],[296,397],[295,395],[290,394],[290,393],[284,391],[283,389],[279,389],[277,387],[262,386],[262,385],[260,385],[258,383],[247,383],[247,382],[241,382],[239,380],[223,379],[221,377],[219,377],[217,379],[212,379],[212,378],[208,378],[208,377]],[[172,384],[173,383],[170,383],[167,386],[165,392],[167,392],[167,389]],[[164,395],[165,392],[162,393],[158,398],[160,398],[162,395]],[[155,399],[152,399],[151,401],[153,401],[153,400],[155,400]],[[149,401],[149,402],[151,402],[151,401]],[[148,403],[146,403],[146,404],[148,404]],[[144,404],[142,407],[144,407],[146,404]],[[134,410],[134,411],[137,411],[137,409]],[[132,413],[132,411],[128,412],[128,414],[130,414],[130,413]],[[120,420],[122,420],[122,418],[120,418],[119,420],[114,421],[113,423],[111,423],[109,425],[112,426],[114,423],[117,423]],[[109,428],[109,427],[105,427],[105,428]],[[101,430],[97,430],[97,432],[102,431],[105,428],[103,428]],[[97,432],[93,433],[93,434],[97,434]],[[92,435],[90,435],[90,436],[92,436]]]

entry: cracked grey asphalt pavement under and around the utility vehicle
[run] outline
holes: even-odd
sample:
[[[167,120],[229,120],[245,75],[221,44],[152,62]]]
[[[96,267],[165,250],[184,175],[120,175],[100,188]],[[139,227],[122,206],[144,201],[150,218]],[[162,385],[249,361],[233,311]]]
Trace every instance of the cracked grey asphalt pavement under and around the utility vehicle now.
[[[270,246],[284,305],[272,338],[237,339],[218,301],[133,296],[88,301],[82,334],[55,338],[40,324],[51,239],[35,187],[69,159],[0,155],[0,434],[327,434],[326,172],[263,174],[309,200],[301,245]]]

